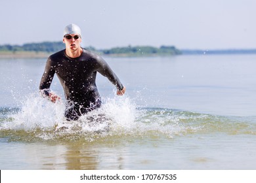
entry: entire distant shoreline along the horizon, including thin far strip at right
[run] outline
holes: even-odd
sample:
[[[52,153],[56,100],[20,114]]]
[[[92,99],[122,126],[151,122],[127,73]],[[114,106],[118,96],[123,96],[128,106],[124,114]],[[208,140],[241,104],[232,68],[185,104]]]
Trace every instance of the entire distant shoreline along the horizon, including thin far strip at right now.
[[[0,45],[0,58],[47,58],[54,52],[65,48],[63,42],[38,42],[20,45]],[[256,49],[226,49],[226,50],[179,50],[175,46],[123,46],[110,49],[87,49],[104,56],[143,57],[143,56],[175,56],[188,54],[256,54]]]

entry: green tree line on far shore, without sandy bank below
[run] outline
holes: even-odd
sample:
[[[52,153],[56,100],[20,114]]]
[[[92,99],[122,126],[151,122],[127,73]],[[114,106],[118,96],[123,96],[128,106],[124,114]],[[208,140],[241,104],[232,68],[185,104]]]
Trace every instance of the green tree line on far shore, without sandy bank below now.
[[[39,43],[27,43],[22,46],[5,44],[0,45],[0,52],[58,52],[65,48],[63,42],[39,42]],[[143,55],[143,54],[168,54],[176,55],[181,54],[181,51],[175,48],[175,46],[160,46],[156,48],[154,46],[123,46],[110,49],[96,50],[94,47],[87,47],[89,50],[99,52],[101,54],[128,54],[128,55]]]

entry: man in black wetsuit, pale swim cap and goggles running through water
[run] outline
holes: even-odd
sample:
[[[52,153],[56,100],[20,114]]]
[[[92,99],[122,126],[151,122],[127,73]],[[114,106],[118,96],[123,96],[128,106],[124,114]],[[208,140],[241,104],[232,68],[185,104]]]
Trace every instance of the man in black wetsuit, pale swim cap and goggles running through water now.
[[[60,97],[49,89],[56,73],[67,100],[67,120],[77,120],[79,116],[100,107],[101,99],[95,84],[97,72],[106,76],[116,86],[117,95],[125,93],[125,87],[106,61],[95,53],[81,48],[81,29],[77,25],[70,24],[65,27],[63,42],[66,49],[47,59],[39,90],[53,103],[59,100]]]

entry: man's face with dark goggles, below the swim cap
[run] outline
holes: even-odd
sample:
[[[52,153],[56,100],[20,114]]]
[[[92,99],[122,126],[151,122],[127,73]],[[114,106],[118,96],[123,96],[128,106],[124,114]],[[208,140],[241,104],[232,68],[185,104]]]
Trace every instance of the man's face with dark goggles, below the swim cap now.
[[[63,38],[63,42],[66,44],[66,49],[77,50],[80,48],[81,36],[79,34],[68,34]]]

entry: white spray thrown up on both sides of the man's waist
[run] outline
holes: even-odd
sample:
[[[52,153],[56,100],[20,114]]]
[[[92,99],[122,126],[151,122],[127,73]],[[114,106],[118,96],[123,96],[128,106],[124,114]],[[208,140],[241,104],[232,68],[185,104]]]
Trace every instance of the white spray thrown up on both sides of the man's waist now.
[[[71,128],[72,124],[76,124],[82,131],[97,131],[110,123],[116,127],[130,129],[135,122],[135,104],[131,103],[129,97],[124,96],[103,99],[101,108],[81,116],[77,122],[65,120],[64,101],[51,103],[39,96],[39,93],[30,93],[21,103],[20,111],[9,116],[12,120],[5,123],[5,128],[30,131],[35,128],[51,129],[56,126]],[[103,118],[102,115],[104,115]],[[100,120],[98,125],[96,125],[97,120]]]

